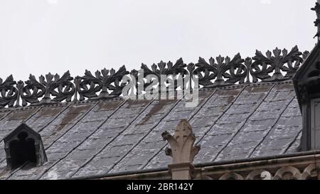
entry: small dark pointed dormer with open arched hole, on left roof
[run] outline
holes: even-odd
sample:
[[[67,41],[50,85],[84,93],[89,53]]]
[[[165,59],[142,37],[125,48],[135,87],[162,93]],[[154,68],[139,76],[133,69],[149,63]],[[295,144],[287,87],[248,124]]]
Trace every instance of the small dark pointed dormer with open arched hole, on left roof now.
[[[41,135],[28,125],[21,124],[4,138],[7,168],[41,166],[48,159]]]

